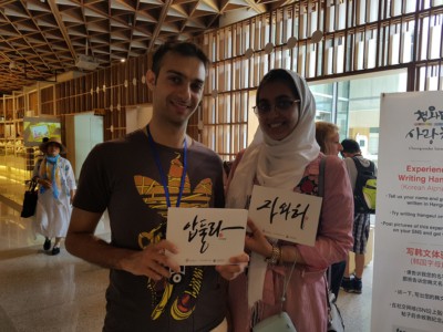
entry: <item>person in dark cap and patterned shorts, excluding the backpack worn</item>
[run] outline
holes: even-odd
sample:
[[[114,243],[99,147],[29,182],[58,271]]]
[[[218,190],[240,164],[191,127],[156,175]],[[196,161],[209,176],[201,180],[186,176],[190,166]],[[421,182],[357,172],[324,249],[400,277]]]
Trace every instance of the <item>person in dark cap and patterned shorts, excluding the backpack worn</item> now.
[[[344,164],[347,165],[349,177],[351,180],[352,191],[356,188],[356,180],[358,176],[358,169],[356,167],[356,163],[353,159],[357,159],[362,166],[368,167],[370,165],[370,160],[364,158],[361,155],[360,145],[354,139],[343,139],[341,142],[343,146],[343,151],[341,155],[344,158]],[[375,176],[377,176],[377,167]],[[356,253],[354,262],[356,262],[356,272],[354,274],[350,273],[349,269],[349,256],[347,259],[347,264],[344,269],[344,277],[341,281],[341,288],[349,293],[361,294],[363,288],[363,269],[364,269],[364,253],[367,252],[367,245],[370,231],[370,215],[369,214],[360,214],[356,212],[353,216],[353,247],[351,249],[352,252]]]

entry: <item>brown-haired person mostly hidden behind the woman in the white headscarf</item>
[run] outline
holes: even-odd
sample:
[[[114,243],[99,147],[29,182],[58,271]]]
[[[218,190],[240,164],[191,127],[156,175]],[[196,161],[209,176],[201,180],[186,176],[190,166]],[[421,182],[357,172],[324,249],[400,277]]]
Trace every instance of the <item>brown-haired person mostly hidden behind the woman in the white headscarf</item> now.
[[[329,122],[316,122],[316,141],[320,145],[320,151],[326,155],[337,156],[343,147],[340,144],[339,127]],[[330,289],[336,297],[339,297],[341,280],[343,279],[346,260],[333,263],[330,273]]]

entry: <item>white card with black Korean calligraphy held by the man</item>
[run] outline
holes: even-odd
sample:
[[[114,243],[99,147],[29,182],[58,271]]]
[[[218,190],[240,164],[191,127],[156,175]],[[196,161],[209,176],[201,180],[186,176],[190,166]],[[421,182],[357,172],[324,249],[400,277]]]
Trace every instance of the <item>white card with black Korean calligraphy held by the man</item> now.
[[[244,252],[245,209],[174,208],[167,211],[166,239],[178,248],[181,266],[219,266]]]

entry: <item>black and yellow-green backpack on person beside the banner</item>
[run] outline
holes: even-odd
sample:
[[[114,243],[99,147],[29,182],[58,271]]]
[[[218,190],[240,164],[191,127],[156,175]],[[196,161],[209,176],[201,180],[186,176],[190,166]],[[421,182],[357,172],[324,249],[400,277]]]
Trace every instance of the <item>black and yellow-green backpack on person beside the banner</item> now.
[[[364,167],[358,157],[352,157],[357,167],[356,188],[353,189],[353,205],[356,214],[375,214],[377,176],[375,164]]]

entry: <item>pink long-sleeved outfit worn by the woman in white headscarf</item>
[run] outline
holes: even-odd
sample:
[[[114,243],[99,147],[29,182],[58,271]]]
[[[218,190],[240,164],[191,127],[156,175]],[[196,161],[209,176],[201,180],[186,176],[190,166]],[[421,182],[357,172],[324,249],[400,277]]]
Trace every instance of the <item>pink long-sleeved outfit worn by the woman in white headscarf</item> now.
[[[233,165],[229,180],[241,158],[240,153]],[[295,191],[317,195],[319,164],[324,155],[306,167],[300,184]],[[297,332],[327,331],[328,309],[326,294],[326,269],[343,261],[352,247],[353,196],[343,162],[328,156],[324,167],[324,193],[320,226],[313,247],[279,241],[280,246],[297,246],[306,264],[297,264],[287,289],[284,310],[291,318]],[[228,181],[229,186],[229,181]],[[289,277],[291,263],[270,266],[265,278],[262,301],[258,305],[258,320],[261,321],[280,311],[280,298],[285,276]],[[247,271],[245,272],[247,273]],[[234,332],[249,332],[251,312],[247,300],[247,276],[243,273],[229,283],[230,326]]]

